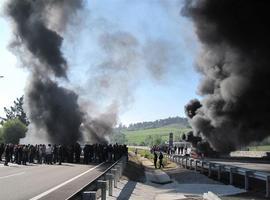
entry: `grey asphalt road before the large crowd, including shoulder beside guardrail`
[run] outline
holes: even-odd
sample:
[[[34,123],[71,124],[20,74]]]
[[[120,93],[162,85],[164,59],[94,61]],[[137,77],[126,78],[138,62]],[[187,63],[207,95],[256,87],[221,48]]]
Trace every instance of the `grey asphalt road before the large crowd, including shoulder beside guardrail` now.
[[[1,163],[0,199],[65,199],[107,167],[108,164],[4,166]]]

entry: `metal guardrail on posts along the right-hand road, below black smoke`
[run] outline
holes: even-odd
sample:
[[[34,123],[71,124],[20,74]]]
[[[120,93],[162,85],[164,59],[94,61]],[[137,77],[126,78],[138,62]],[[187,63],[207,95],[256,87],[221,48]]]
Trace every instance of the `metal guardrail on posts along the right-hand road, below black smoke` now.
[[[201,173],[208,173],[208,176],[211,177],[213,172],[217,173],[218,180],[221,180],[222,173],[229,173],[229,182],[231,185],[234,183],[234,174],[242,175],[245,178],[245,190],[250,188],[249,179],[259,179],[265,181],[266,187],[266,197],[270,197],[270,173],[260,172],[257,170],[251,170],[247,168],[237,167],[233,165],[226,165],[221,163],[216,163],[212,161],[205,161],[201,159],[194,159],[179,155],[168,155],[165,156],[173,162],[180,164],[182,167],[200,171]]]

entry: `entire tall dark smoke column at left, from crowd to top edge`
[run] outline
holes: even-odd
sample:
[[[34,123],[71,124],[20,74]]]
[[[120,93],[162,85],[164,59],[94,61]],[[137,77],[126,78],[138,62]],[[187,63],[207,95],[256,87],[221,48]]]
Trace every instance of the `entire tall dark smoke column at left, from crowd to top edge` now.
[[[78,96],[58,86],[55,79],[67,78],[60,33],[81,6],[81,0],[10,0],[7,4],[16,35],[11,47],[31,71],[25,106],[32,123],[30,138],[47,134],[40,137],[64,144],[81,138]]]

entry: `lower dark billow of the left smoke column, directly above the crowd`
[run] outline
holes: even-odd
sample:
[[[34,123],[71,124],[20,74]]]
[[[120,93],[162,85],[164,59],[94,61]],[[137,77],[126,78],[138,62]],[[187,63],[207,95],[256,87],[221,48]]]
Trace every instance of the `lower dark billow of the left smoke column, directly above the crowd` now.
[[[49,141],[72,144],[80,139],[82,112],[77,104],[77,94],[50,79],[34,79],[27,98],[31,102],[31,123],[43,127]]]

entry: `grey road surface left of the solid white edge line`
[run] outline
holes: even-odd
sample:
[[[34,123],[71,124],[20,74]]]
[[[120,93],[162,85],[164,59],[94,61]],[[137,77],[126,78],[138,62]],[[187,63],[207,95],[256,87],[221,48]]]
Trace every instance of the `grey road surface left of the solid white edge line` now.
[[[37,197],[70,179],[73,181],[72,178],[84,175],[84,172],[91,173],[89,169],[95,166],[64,163],[31,166],[10,164],[6,167],[0,164],[0,199],[24,200]],[[44,195],[41,197],[44,198]]]

